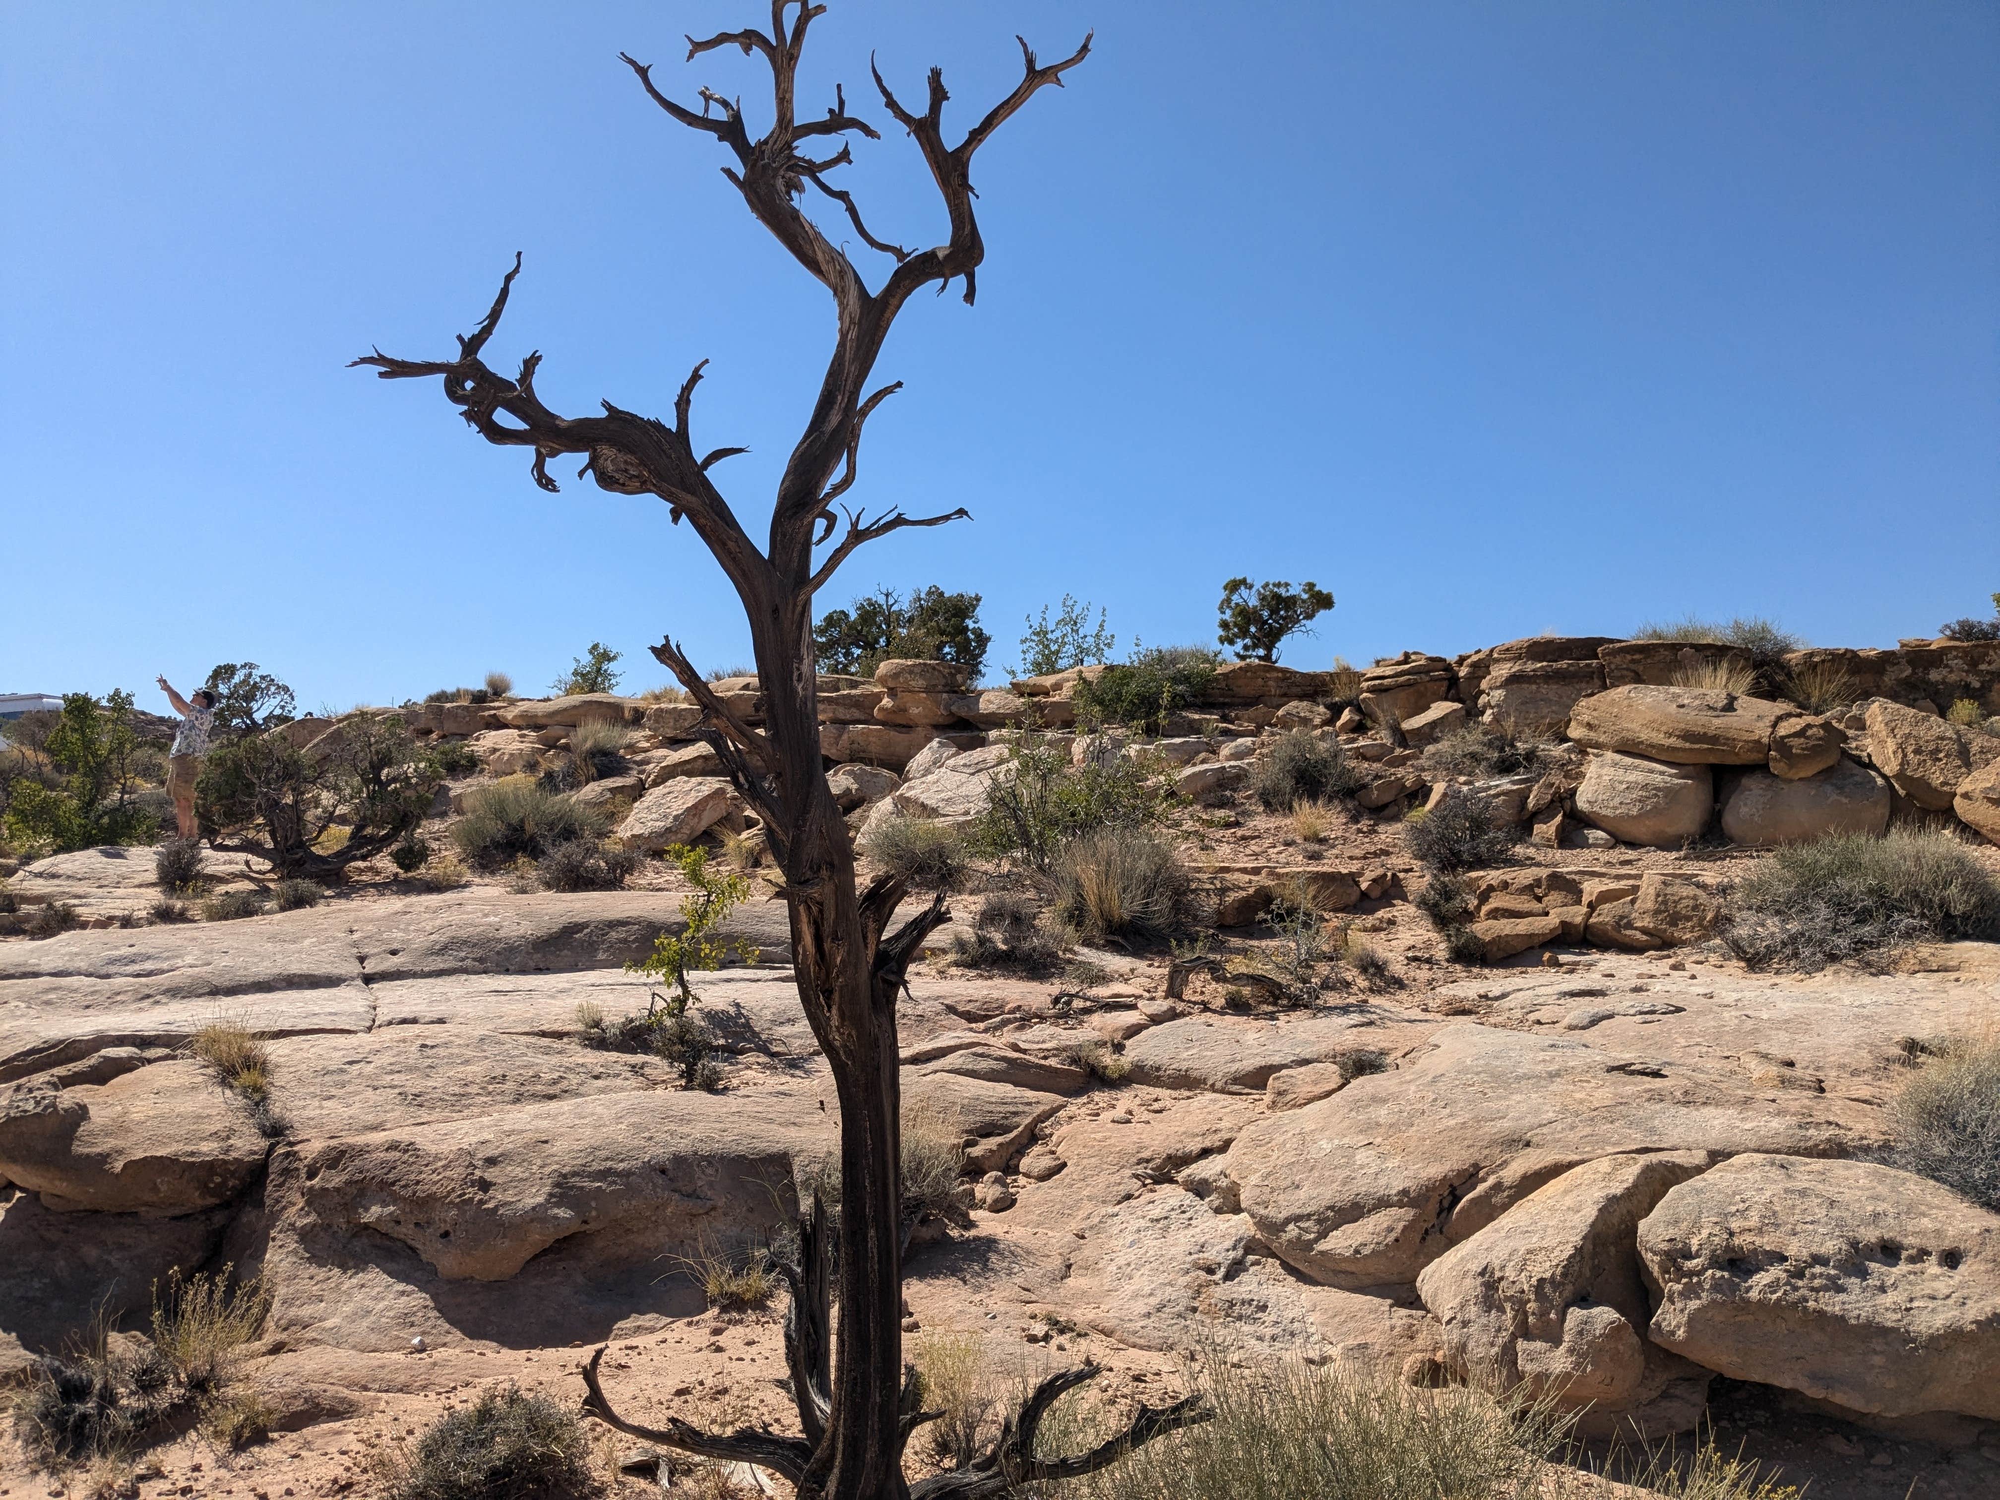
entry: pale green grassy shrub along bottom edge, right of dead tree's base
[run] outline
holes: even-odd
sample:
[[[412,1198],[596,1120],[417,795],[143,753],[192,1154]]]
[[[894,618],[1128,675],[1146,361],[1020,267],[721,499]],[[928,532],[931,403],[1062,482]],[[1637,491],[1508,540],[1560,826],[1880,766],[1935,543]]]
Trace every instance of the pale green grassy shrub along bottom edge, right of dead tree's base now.
[[[1212,1358],[1204,1386],[1212,1420],[1154,1438],[1062,1494],[1528,1500],[1540,1492],[1542,1466],[1564,1438],[1546,1410],[1466,1388],[1420,1390],[1338,1362],[1312,1368]]]

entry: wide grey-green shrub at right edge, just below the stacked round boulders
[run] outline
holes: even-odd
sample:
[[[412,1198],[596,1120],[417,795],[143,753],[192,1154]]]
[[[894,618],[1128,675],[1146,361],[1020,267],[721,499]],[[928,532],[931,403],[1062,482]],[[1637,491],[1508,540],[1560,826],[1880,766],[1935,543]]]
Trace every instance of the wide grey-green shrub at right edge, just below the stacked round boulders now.
[[[2000,938],[2000,882],[1958,838],[1836,834],[1768,854],[1718,936],[1750,968],[1820,970],[1908,942]]]

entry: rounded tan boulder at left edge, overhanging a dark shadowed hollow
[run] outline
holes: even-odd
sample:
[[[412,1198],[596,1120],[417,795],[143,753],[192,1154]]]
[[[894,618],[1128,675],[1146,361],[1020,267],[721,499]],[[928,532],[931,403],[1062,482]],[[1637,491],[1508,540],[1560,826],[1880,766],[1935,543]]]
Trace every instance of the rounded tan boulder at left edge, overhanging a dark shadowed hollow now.
[[[56,1210],[194,1214],[226,1204],[268,1142],[198,1062],[156,1062],[104,1084],[58,1076],[0,1092],[0,1176]]]

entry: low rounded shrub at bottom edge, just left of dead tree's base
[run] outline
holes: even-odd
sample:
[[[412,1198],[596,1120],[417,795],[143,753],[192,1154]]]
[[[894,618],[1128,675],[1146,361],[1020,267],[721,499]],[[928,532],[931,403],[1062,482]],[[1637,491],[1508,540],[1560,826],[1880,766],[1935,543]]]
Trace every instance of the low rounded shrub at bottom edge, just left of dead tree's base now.
[[[438,1418],[404,1456],[392,1500],[566,1500],[596,1490],[582,1420],[512,1386]]]

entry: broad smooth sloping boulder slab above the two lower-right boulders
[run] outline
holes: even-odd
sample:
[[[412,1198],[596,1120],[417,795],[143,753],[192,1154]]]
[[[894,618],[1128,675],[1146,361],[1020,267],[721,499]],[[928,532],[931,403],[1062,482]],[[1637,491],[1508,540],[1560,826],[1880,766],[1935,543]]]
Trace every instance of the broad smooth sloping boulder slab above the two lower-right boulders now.
[[[1394,1072],[1250,1124],[1226,1166],[1260,1238],[1302,1274],[1406,1284],[1598,1156],[1846,1150],[1850,1134],[1812,1098],[1772,1100],[1736,1074],[1586,1042],[1448,1026]]]

